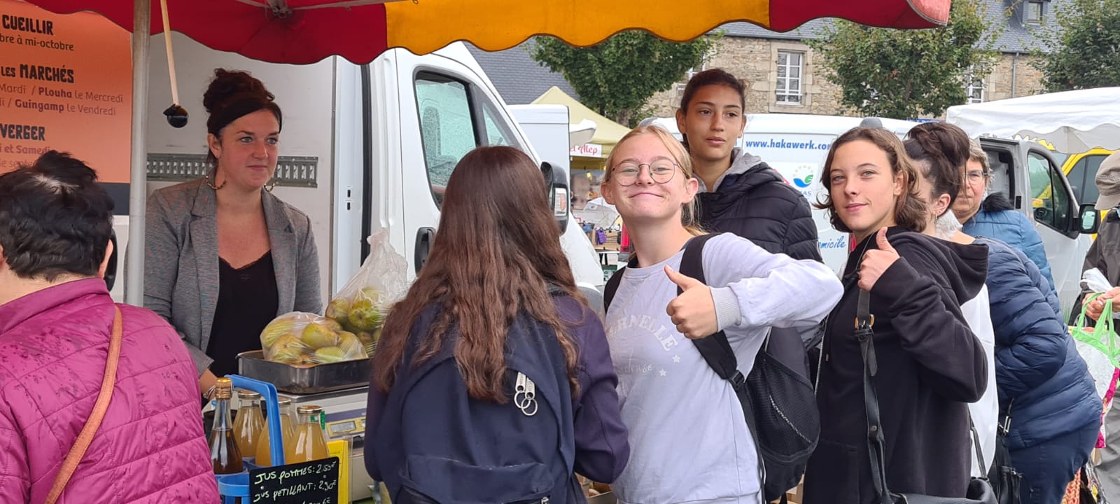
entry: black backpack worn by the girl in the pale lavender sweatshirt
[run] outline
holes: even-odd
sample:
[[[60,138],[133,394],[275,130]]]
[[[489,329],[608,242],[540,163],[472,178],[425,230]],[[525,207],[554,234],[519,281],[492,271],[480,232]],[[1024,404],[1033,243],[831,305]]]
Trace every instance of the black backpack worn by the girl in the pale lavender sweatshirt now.
[[[703,245],[717,234],[706,234],[689,240],[681,258],[680,273],[704,282]],[[636,267],[637,258],[629,268]],[[623,269],[607,281],[604,306],[610,301],[622,283]],[[682,291],[678,287],[678,295]],[[692,339],[700,355],[719,377],[731,382],[731,388],[743,405],[747,428],[755,440],[762,464],[763,495],[767,502],[782,498],[801,483],[809,456],[816,448],[821,432],[816,396],[809,379],[809,356],[805,344],[794,333],[780,337],[767,334],[755,356],[755,365],[746,376],[738,370],[738,360],[718,332],[707,338]]]

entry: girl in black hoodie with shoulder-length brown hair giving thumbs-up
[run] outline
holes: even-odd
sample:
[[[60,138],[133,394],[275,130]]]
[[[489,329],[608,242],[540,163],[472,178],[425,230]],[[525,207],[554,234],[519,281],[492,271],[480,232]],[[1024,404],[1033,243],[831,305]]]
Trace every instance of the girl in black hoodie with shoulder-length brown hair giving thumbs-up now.
[[[844,267],[820,358],[821,437],[805,472],[805,504],[879,502],[872,486],[864,360],[853,334],[860,289],[875,316],[878,394],[887,487],[963,497],[969,484],[967,403],[987,384],[983,348],[964,321],[987,276],[986,246],[917,233],[925,202],[894,133],[855,128],[832,143],[820,207],[858,243]]]

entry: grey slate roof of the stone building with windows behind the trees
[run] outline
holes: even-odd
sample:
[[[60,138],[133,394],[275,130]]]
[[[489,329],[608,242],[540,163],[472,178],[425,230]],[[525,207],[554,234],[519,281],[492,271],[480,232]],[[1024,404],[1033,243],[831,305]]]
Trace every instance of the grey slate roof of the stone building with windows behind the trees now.
[[[1054,8],[1063,0],[1046,0],[1043,4],[1044,21],[1054,19]],[[1048,25],[1024,22],[1026,2],[1019,0],[984,0],[984,13],[992,26],[1004,26],[1004,31],[996,40],[996,47],[1002,53],[1029,53],[1033,49],[1045,49],[1043,37]],[[829,26],[831,18],[813,19],[790,31],[771,31],[750,22],[729,22],[721,26],[726,37],[773,38],[785,40],[805,40],[819,37],[821,28]]]

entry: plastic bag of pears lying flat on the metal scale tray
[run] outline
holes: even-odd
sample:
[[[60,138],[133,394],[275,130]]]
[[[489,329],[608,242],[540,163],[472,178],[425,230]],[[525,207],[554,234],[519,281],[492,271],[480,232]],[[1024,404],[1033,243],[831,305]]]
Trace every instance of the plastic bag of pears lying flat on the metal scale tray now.
[[[284,314],[261,332],[264,358],[286,364],[325,364],[366,358],[357,335],[337,321],[316,314]]]

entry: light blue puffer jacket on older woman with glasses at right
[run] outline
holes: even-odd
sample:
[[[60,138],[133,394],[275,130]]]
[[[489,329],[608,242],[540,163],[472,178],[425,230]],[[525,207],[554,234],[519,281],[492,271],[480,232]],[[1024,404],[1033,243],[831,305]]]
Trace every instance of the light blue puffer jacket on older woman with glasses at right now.
[[[1015,211],[1004,193],[992,193],[991,196],[988,196],[983,200],[980,212],[965,222],[964,228],[961,231],[970,236],[996,239],[1011,245],[1012,249],[1023,251],[1038,267],[1043,278],[1048,283],[1049,291],[1054,293],[1054,297],[1057,297],[1054,277],[1049,271],[1049,261],[1046,259],[1046,249],[1043,246],[1043,237],[1038,235],[1034,224],[1026,215]]]

